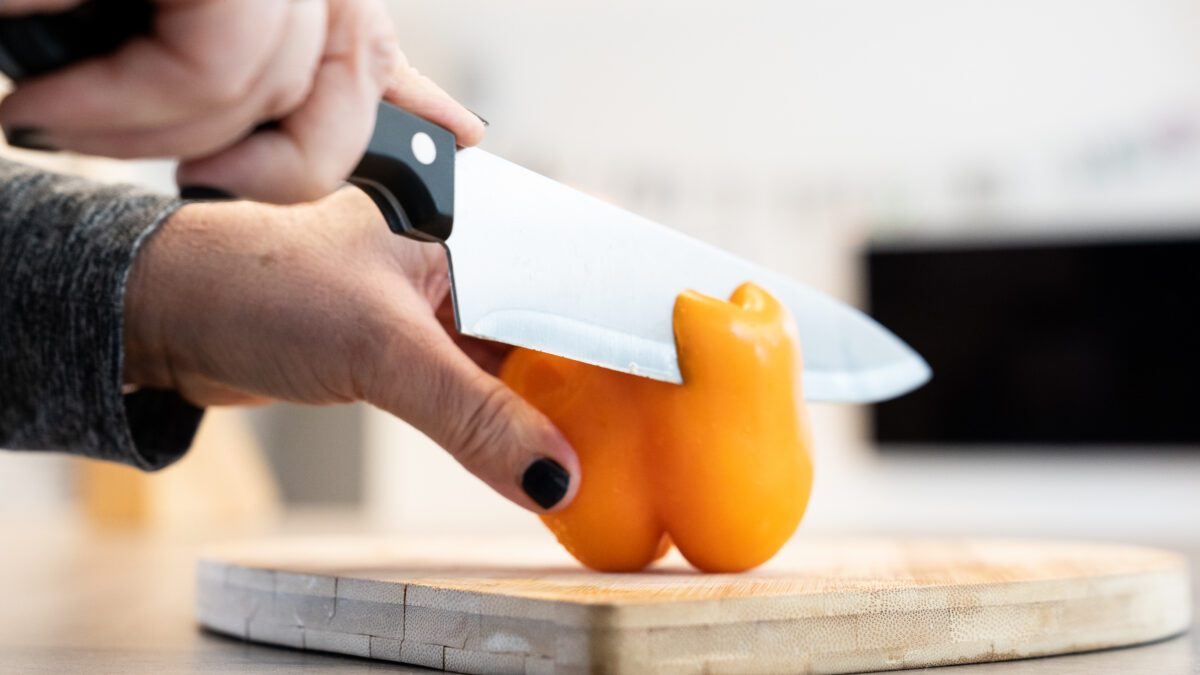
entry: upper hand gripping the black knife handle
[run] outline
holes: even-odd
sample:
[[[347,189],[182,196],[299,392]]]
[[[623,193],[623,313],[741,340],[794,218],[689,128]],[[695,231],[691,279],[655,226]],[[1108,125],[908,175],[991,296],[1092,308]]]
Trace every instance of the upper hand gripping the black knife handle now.
[[[82,0],[2,0],[0,14]],[[320,198],[350,173],[380,98],[455,132],[484,124],[408,65],[382,0],[155,0],[154,34],[23,82],[11,139],[118,159],[179,157],[178,181],[272,203]],[[262,123],[277,127],[251,133]]]

